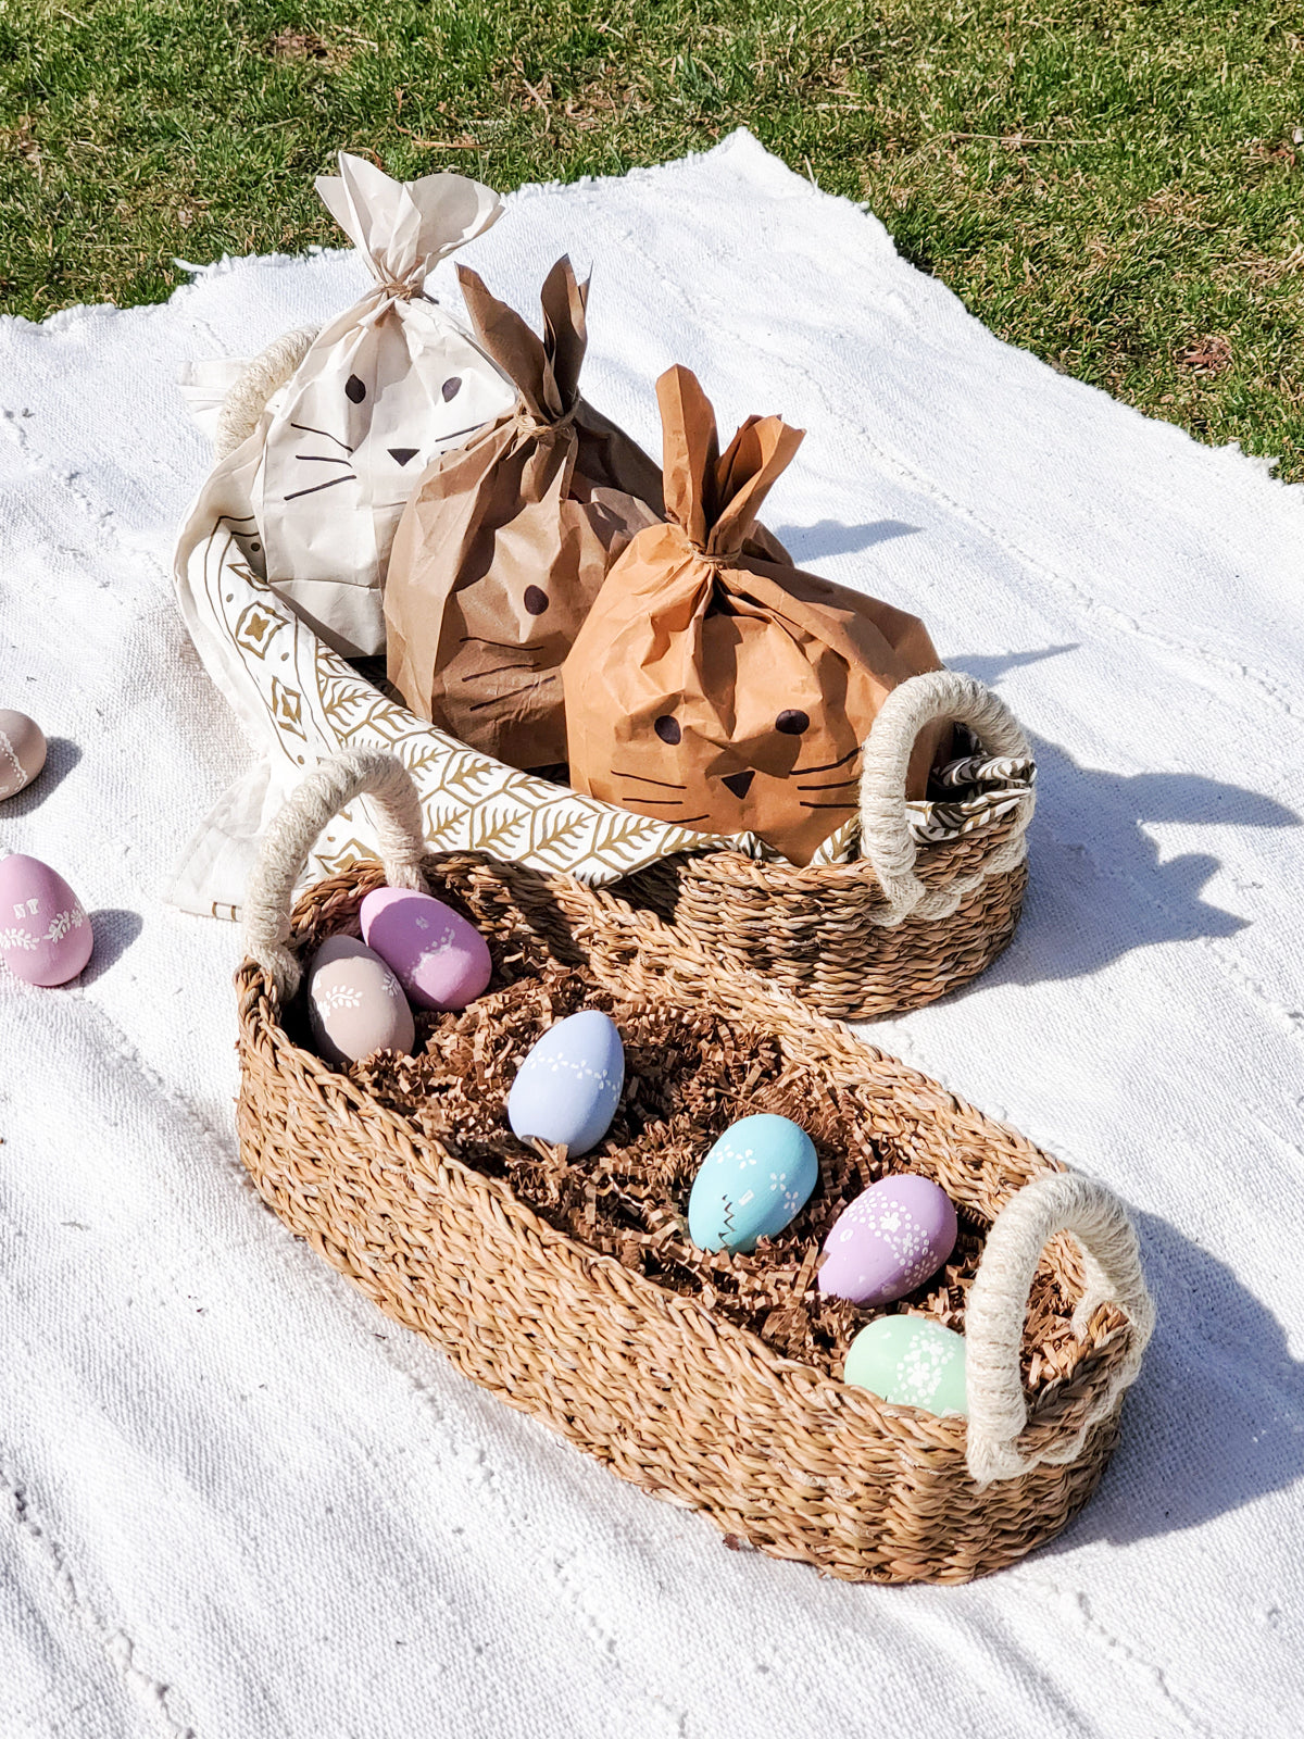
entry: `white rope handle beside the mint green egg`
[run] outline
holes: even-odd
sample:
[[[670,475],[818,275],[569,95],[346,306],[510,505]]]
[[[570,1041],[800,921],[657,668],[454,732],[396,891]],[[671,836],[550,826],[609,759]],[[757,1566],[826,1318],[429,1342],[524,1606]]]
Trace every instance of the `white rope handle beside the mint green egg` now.
[[[1081,1429],[1035,1456],[1015,1447],[1028,1424],[1019,1349],[1028,1296],[1041,1250],[1057,1231],[1081,1245],[1087,1287],[1073,1313],[1083,1334],[1097,1306],[1116,1304],[1132,1327],[1127,1356],[1097,1396]],[[1154,1330],[1154,1301],[1146,1290],[1137,1235],[1123,1205],[1104,1184],[1080,1172],[1050,1172],[1026,1184],[996,1216],[965,1306],[965,1377],[968,1386],[967,1461],[979,1485],[1012,1480],[1038,1462],[1062,1466],[1081,1454],[1087,1433],[1108,1417],[1141,1369]]]

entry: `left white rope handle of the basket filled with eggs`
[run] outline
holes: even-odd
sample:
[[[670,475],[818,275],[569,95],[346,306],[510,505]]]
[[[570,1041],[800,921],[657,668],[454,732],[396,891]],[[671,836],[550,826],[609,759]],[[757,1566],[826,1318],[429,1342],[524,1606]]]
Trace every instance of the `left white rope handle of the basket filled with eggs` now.
[[[376,798],[381,863],[389,887],[424,892],[426,840],[412,774],[386,750],[344,750],[322,760],[268,828],[245,894],[245,955],[257,960],[282,1003],[299,988],[301,969],[285,946],[290,901],[318,835],[358,796]]]

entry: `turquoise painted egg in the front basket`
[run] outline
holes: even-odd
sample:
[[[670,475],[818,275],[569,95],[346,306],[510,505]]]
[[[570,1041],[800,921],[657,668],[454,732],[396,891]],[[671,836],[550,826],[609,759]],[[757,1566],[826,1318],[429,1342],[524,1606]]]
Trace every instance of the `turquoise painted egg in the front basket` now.
[[[803,1129],[768,1111],[744,1116],[702,1160],[689,1196],[689,1235],[699,1250],[748,1256],[796,1219],[817,1179]]]

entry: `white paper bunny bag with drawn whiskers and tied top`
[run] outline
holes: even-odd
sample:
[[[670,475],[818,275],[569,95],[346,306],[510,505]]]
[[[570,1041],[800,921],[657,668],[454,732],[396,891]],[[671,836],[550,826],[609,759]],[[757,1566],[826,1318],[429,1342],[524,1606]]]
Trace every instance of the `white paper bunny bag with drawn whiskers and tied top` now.
[[[515,402],[424,292],[435,264],[496,223],[502,202],[466,176],[402,183],[344,151],[339,176],[320,176],[316,191],[374,285],[316,334],[226,463],[247,470],[256,459],[242,537],[254,570],[330,647],[367,657],[384,650],[389,544],[426,461]],[[207,376],[191,376],[195,400]]]

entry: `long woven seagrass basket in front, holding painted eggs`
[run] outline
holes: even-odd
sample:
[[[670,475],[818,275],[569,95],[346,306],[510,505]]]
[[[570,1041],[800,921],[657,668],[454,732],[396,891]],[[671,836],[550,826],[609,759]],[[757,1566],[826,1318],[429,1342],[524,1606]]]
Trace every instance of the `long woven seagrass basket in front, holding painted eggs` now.
[[[363,791],[384,868],[330,876],[290,915],[316,831]],[[542,948],[595,991],[763,1029],[786,1069],[852,1108],[857,1137],[941,1183],[986,1235],[965,1301],[968,1421],[848,1388],[596,1254],[422,1134],[416,1108],[301,1049],[287,1031],[301,960],[386,880],[450,899],[499,962]],[[383,1311],[513,1407],[735,1542],[852,1581],[968,1581],[1050,1539],[1094,1492],[1153,1325],[1132,1226],[1101,1184],[647,913],[565,876],[428,854],[409,776],[376,751],[320,767],[276,819],[247,941],[238,1125],[254,1183]],[[1047,1271],[1069,1351],[1026,1379],[1029,1290]]]

